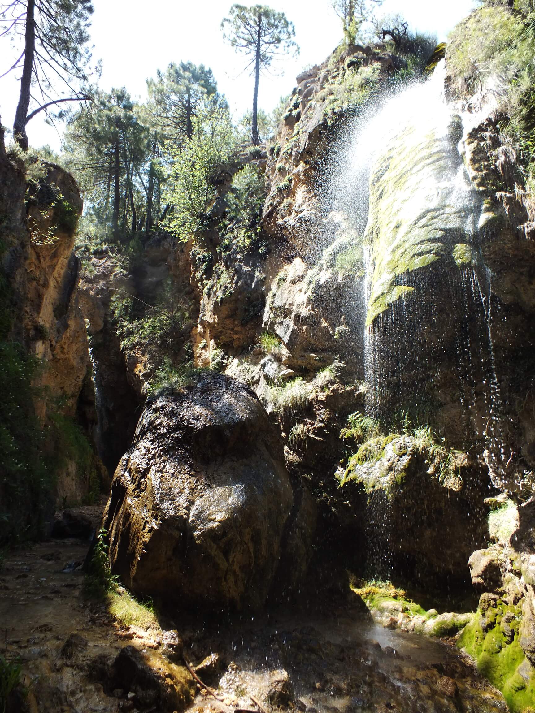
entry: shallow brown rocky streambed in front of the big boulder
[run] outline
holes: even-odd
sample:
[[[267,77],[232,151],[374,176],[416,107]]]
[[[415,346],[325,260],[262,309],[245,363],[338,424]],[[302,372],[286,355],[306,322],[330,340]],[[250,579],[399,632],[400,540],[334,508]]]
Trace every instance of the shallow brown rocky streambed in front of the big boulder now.
[[[53,539],[4,562],[2,639],[27,687],[10,712],[507,710],[452,645],[374,625],[349,588],[260,616],[170,617],[120,587],[88,597],[87,550]]]

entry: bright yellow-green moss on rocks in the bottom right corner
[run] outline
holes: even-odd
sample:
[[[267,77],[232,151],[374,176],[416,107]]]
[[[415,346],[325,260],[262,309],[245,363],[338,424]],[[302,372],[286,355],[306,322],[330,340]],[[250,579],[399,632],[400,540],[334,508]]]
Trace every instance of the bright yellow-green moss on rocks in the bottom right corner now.
[[[507,612],[516,617],[510,624],[514,632],[511,642],[506,640],[500,627]],[[535,703],[535,674],[531,672],[524,677],[519,671],[526,660],[519,643],[519,617],[518,607],[498,600],[496,607],[474,614],[457,642],[457,646],[475,660],[479,672],[501,690],[512,713],[521,713]],[[524,668],[529,671],[529,667]]]

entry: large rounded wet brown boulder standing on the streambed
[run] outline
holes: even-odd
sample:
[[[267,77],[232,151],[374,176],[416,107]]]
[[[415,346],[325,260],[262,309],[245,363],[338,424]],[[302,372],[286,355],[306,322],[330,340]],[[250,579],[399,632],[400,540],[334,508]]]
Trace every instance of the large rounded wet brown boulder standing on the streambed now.
[[[112,570],[133,591],[220,609],[262,605],[287,552],[300,554],[285,558],[298,579],[314,512],[301,484],[292,488],[280,437],[253,391],[207,372],[148,403],[104,526]]]

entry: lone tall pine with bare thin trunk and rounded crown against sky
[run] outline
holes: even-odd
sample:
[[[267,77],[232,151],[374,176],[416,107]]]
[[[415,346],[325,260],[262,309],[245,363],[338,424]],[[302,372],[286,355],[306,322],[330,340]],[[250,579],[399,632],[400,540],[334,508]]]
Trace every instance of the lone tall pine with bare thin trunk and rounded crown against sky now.
[[[258,135],[258,83],[260,72],[271,66],[272,62],[288,53],[299,52],[294,41],[295,29],[283,12],[272,10],[267,5],[235,4],[230,8],[229,16],[221,23],[223,36],[249,59],[246,69],[255,76],[253,94],[253,114],[251,116],[251,141],[260,143]]]

